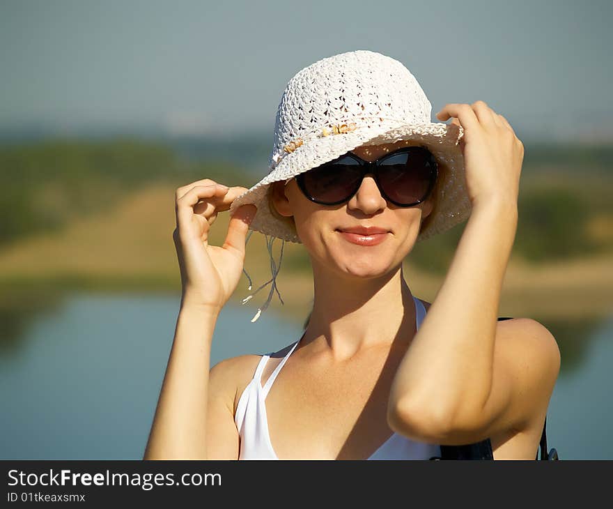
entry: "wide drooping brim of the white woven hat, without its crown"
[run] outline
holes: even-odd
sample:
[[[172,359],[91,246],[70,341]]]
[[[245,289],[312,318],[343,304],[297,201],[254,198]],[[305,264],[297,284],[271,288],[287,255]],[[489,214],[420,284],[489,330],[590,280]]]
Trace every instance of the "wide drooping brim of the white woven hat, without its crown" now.
[[[235,209],[242,205],[254,204],[258,207],[258,211],[249,229],[285,241],[300,243],[293,220],[278,214],[274,215],[270,211],[267,191],[272,182],[307,172],[358,146],[414,140],[428,147],[440,169],[440,178],[433,190],[433,211],[424,220],[417,237],[417,241],[422,241],[453,227],[470,215],[471,204],[465,186],[464,158],[459,145],[462,136],[463,128],[456,124],[386,123],[382,126],[371,126],[304,142],[295,151],[285,154],[279,164],[274,166],[261,181],[238,196],[230,206],[230,214],[232,215]]]

